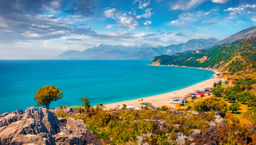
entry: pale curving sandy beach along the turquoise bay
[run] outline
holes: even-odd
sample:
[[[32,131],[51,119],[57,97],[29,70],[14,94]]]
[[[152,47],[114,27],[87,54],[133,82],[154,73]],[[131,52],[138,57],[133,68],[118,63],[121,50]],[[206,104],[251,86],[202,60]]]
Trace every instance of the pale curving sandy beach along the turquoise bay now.
[[[217,70],[211,70],[214,71],[215,74],[218,74],[219,72]],[[155,107],[161,107],[161,106],[168,106],[173,109],[177,109],[175,106],[175,103],[171,103],[172,98],[174,97],[184,97],[190,92],[195,92],[198,89],[204,89],[207,87],[212,87],[214,82],[218,82],[220,78],[217,76],[212,77],[211,79],[204,80],[203,82],[196,83],[192,86],[188,86],[183,89],[178,89],[176,91],[167,92],[164,94],[158,94],[158,95],[152,95],[149,97],[143,97],[143,98],[136,98],[133,100],[127,100],[127,101],[119,101],[115,103],[109,103],[104,106],[106,106],[106,109],[115,109],[118,108],[118,106],[123,106],[123,104],[126,104],[127,106],[137,106],[138,108],[141,107],[141,103],[152,103]],[[141,101],[141,99],[143,99]],[[139,101],[140,100],[140,101]]]

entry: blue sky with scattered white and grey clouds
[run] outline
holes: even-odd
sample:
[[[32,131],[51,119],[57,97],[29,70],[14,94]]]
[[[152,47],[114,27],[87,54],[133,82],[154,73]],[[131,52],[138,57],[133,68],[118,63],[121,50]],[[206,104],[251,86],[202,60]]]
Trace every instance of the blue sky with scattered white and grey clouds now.
[[[0,59],[51,59],[100,43],[222,40],[252,26],[253,0],[0,0]]]

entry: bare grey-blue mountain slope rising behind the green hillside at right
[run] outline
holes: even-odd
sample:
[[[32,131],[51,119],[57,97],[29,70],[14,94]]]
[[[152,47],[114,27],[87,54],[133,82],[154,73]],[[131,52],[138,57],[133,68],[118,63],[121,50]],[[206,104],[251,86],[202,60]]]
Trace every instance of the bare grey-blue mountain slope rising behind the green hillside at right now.
[[[222,45],[225,43],[232,43],[236,40],[239,39],[246,39],[246,38],[250,38],[250,37],[255,37],[256,36],[256,27],[249,27],[245,30],[242,30],[238,33],[235,33],[229,37],[227,37],[226,39],[221,40],[220,42],[216,43],[215,45]]]

